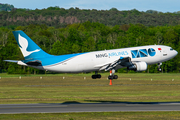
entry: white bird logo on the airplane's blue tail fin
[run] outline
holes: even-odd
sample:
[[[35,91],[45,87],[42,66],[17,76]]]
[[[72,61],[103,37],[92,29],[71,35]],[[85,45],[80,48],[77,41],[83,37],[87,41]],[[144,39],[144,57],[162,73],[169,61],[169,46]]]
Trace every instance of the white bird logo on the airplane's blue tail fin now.
[[[22,37],[20,34],[19,34],[18,38],[19,38],[18,42],[19,42],[19,45],[20,45],[19,47],[20,47],[24,57],[27,57],[30,54],[34,53],[34,52],[39,52],[40,51],[40,49],[36,49],[34,51],[27,51],[27,48],[28,48],[28,41],[27,41],[27,39]]]

